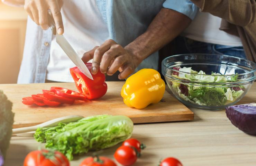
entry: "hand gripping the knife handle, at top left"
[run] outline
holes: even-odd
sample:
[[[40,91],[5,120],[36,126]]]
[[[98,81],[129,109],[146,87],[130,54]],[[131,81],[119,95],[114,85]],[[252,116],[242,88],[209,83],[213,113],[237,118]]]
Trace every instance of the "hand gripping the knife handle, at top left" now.
[[[64,27],[61,17],[61,7],[63,0],[25,0],[24,9],[29,17],[40,25],[44,30],[48,29],[48,10],[50,9],[56,25],[58,34],[64,33]]]

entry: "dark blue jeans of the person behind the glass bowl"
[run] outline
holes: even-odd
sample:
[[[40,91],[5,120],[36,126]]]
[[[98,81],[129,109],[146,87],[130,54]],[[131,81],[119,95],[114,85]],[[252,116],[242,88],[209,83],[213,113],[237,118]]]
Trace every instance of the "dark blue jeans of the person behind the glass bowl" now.
[[[186,37],[178,36],[174,39],[176,50],[175,54],[190,54],[190,53],[202,53],[202,54],[220,54],[231,55],[246,59],[244,48],[225,46],[219,44],[211,44],[198,42]]]

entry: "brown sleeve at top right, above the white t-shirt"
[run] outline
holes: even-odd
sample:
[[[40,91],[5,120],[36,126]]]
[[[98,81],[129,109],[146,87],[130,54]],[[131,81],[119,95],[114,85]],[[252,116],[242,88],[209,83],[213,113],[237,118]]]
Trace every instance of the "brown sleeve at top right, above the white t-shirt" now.
[[[256,21],[255,0],[191,0],[202,12],[209,12],[231,24],[246,26]]]

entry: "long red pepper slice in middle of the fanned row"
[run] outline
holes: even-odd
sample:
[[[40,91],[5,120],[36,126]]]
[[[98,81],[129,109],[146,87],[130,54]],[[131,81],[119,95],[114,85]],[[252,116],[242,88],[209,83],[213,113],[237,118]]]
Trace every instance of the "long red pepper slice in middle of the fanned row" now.
[[[75,101],[74,99],[64,98],[64,97],[59,96],[59,95],[55,94],[54,92],[51,92],[48,90],[42,90],[42,91],[43,91],[44,97],[47,98],[48,100],[66,103],[66,104],[73,104]]]

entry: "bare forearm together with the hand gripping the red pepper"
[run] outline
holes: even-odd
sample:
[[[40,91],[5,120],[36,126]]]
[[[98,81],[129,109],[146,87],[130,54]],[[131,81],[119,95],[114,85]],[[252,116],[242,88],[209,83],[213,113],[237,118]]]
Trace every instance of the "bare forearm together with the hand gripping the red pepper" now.
[[[174,39],[190,22],[188,16],[162,8],[145,33],[126,47],[123,48],[113,40],[107,40],[103,45],[86,52],[82,60],[88,62],[93,58],[92,74],[96,74],[99,68],[102,73],[108,75],[113,75],[119,70],[119,79],[125,79],[146,57]]]

